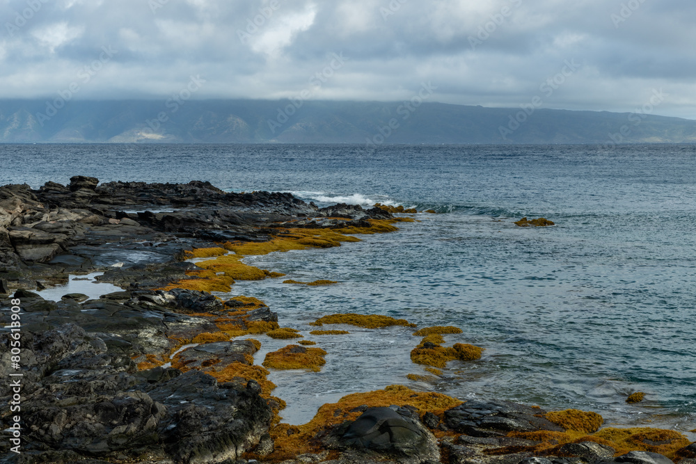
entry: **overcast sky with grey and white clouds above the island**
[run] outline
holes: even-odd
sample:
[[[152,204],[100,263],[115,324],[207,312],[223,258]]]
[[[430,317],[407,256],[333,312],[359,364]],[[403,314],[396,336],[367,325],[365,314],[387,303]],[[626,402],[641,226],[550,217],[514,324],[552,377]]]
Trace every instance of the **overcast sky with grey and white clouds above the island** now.
[[[401,101],[425,84],[449,104],[696,119],[693,0],[0,0],[0,19],[0,98]]]

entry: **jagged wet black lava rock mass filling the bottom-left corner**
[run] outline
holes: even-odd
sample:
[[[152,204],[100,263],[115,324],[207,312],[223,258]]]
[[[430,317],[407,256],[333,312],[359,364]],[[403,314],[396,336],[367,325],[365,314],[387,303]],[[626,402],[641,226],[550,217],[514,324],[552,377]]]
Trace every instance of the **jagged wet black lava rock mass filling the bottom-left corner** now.
[[[0,374],[10,372],[9,335],[0,335]],[[61,462],[78,457],[159,456],[170,462],[222,462],[255,447],[271,410],[258,385],[218,384],[200,371],[139,373],[128,356],[83,328],[66,324],[24,332],[22,461]],[[8,385],[0,387],[10,401]]]

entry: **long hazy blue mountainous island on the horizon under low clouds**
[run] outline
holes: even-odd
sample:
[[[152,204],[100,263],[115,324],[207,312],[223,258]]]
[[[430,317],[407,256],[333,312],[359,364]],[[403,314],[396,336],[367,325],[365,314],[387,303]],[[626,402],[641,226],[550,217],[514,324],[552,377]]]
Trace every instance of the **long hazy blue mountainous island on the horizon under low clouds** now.
[[[695,143],[696,121],[643,112],[425,102],[0,100],[0,143]]]

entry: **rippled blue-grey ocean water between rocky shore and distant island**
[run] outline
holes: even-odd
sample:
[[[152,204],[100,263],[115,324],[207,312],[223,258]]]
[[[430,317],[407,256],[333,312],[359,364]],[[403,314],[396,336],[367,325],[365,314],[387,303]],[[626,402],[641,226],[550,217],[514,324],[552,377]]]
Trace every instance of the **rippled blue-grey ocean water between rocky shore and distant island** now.
[[[251,257],[296,280],[239,282],[280,322],[326,349],[320,373],[274,372],[285,418],[303,423],[344,394],[392,383],[458,397],[580,408],[620,425],[696,427],[696,147],[358,145],[0,145],[0,184],[72,175],[103,182],[208,180],[230,191],[291,191],[317,204],[383,202],[422,214],[400,231],[329,250]],[[520,228],[544,216],[548,228]],[[455,325],[477,362],[425,374],[405,328],[312,337],[335,312]],[[266,351],[285,342],[264,342]],[[277,345],[277,346],[276,346]],[[629,406],[631,392],[646,401]],[[693,436],[692,436],[693,438]]]

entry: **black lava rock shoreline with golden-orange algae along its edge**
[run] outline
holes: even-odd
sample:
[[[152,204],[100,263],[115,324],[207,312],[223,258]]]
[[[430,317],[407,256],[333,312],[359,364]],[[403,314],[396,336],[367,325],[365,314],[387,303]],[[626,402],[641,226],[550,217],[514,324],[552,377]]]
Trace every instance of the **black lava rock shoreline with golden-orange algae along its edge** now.
[[[253,296],[224,301],[211,292],[282,277],[248,266],[246,255],[340,246],[393,232],[417,214],[379,205],[319,208],[287,193],[226,193],[207,182],[99,184],[76,176],[68,186],[0,187],[7,326],[0,331],[0,461],[696,464],[696,445],[674,431],[602,429],[594,413],[464,402],[400,385],[347,395],[303,426],[280,424],[285,402],[272,395],[266,367],[319,370],[326,352],[302,339],[256,365],[260,343],[249,335],[302,336]],[[37,293],[90,273],[121,291],[60,301]],[[413,326],[370,314],[327,315],[312,325],[334,323]],[[480,358],[478,347],[445,346],[457,330],[416,331],[422,339],[413,362],[437,376],[447,362]],[[14,412],[13,401],[21,403]]]

